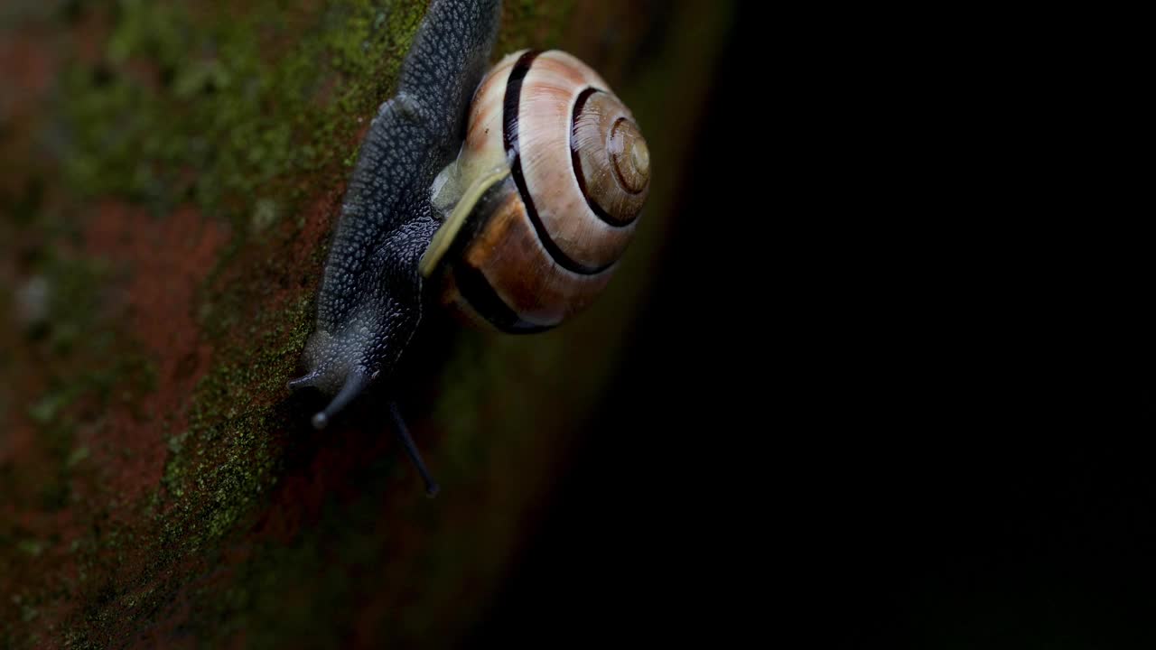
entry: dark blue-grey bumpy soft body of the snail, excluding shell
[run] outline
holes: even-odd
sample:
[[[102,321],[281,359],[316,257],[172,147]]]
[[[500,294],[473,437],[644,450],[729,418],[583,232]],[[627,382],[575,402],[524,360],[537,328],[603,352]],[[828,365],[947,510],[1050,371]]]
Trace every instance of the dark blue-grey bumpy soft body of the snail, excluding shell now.
[[[398,93],[370,124],[341,206],[305,345],[289,383],[336,393],[321,428],[388,372],[421,322],[417,261],[440,221],[429,199],[453,161],[462,116],[497,36],[498,0],[435,0],[401,67]]]

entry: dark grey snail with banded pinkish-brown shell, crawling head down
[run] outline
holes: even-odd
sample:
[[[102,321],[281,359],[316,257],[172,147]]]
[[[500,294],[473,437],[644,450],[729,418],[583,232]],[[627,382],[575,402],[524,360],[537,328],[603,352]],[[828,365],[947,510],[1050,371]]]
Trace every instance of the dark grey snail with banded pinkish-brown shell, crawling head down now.
[[[433,0],[398,91],[362,143],[292,389],[333,394],[324,428],[388,376],[429,303],[510,333],[590,305],[635,231],[650,152],[577,58],[520,51],[487,71],[499,0]],[[395,401],[394,430],[437,493]]]

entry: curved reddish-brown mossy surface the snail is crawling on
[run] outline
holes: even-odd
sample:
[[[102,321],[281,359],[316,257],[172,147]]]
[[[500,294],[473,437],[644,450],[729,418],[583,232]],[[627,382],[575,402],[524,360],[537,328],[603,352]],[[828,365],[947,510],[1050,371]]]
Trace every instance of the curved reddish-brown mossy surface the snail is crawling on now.
[[[484,615],[660,271],[728,9],[506,1],[495,59],[587,60],[654,180],[581,318],[418,335],[398,390],[436,500],[380,390],[319,433],[284,385],[423,9],[0,8],[0,648],[446,645]]]

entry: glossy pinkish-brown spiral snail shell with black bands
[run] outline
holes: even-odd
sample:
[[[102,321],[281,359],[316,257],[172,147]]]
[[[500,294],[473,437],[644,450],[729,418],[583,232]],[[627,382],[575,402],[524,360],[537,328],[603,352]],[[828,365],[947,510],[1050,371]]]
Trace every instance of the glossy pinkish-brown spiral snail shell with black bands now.
[[[514,52],[482,80],[435,179],[447,216],[421,273],[469,320],[548,330],[606,287],[649,189],[646,141],[606,81],[565,52]]]

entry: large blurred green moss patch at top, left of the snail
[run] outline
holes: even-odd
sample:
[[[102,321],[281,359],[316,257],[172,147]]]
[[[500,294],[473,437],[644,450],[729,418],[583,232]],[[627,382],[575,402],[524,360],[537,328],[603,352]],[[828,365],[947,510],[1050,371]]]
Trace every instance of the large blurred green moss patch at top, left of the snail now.
[[[192,201],[242,231],[260,201],[294,212],[336,183],[303,175],[355,158],[354,135],[387,95],[417,5],[120,2],[102,60],[65,76],[76,142],[66,179],[81,197],[125,197],[157,214]]]

